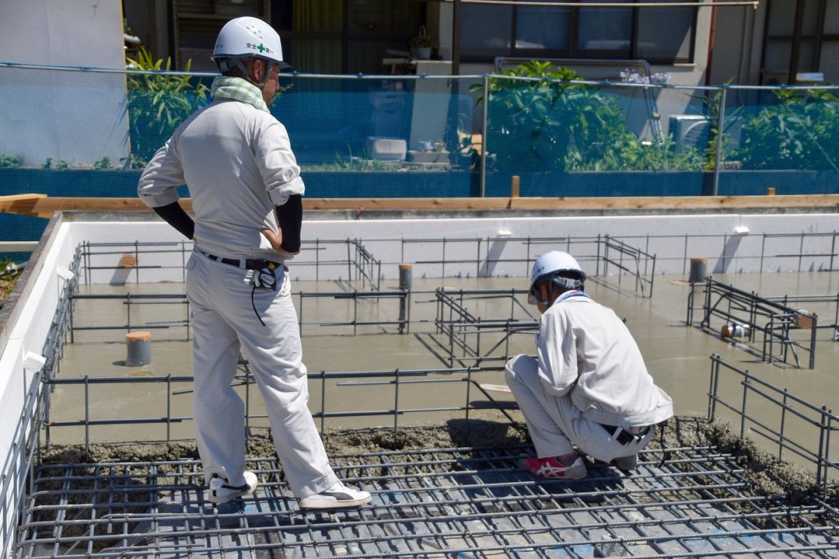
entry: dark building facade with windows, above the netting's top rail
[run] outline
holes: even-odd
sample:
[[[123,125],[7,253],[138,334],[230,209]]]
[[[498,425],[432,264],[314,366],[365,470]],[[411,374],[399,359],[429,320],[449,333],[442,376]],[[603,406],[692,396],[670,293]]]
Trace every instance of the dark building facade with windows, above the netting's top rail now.
[[[623,65],[644,60],[651,72],[669,72],[671,83],[683,85],[809,83],[820,80],[818,73],[839,80],[836,0],[542,3],[149,0],[123,8],[155,55],[171,56],[180,68],[191,60],[194,70],[214,70],[209,54],[228,18],[254,15],[279,30],[296,69],[318,74],[410,72],[415,59],[429,57],[449,62],[439,73],[454,75],[539,59],[614,79]]]

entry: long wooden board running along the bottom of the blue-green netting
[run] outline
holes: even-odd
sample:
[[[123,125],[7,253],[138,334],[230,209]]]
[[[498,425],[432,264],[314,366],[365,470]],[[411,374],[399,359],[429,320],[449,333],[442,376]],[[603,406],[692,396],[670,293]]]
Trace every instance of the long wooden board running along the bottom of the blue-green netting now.
[[[180,199],[192,210],[192,200]],[[645,196],[614,198],[304,198],[305,210],[364,211],[620,211],[620,210],[713,210],[814,208],[839,211],[839,194],[791,194],[782,196]],[[44,194],[0,196],[0,211],[49,218],[60,210],[125,211],[150,210],[138,198],[75,198]]]

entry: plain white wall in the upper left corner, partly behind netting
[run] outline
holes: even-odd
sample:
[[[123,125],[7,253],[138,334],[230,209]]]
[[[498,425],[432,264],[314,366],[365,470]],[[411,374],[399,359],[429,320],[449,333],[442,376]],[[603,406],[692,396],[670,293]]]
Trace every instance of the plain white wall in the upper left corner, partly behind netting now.
[[[0,0],[0,62],[125,67],[115,0]],[[0,153],[90,166],[128,154],[125,76],[0,67]],[[13,133],[11,133],[13,131]]]

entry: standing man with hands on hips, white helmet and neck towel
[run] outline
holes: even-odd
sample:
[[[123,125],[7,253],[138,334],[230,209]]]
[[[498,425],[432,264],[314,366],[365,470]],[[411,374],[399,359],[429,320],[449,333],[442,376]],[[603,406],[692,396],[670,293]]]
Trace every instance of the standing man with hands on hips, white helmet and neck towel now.
[[[258,18],[225,24],[213,50],[221,75],[213,102],[183,122],[154,154],[140,199],[195,241],[186,263],[194,332],[195,438],[207,500],[257,487],[245,471],[242,399],[230,386],[240,347],[253,367],[285,478],[300,507],[363,505],[367,491],[332,471],[308,408],[300,329],[284,262],[300,251],[304,193],[285,127],[268,106],[279,86],[279,35]],[[195,222],[178,204],[187,184]]]

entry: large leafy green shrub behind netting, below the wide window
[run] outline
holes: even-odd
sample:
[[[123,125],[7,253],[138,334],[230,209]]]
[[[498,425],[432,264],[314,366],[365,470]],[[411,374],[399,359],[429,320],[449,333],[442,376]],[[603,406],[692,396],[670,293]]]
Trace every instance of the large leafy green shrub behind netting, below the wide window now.
[[[571,83],[573,70],[550,70],[531,60],[488,84],[487,159],[495,168],[520,170],[700,170],[696,148],[680,150],[670,137],[644,141],[629,131],[618,96]],[[473,85],[470,91],[481,91]],[[482,96],[477,104],[484,102]],[[493,153],[493,147],[498,151]]]

